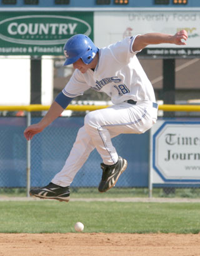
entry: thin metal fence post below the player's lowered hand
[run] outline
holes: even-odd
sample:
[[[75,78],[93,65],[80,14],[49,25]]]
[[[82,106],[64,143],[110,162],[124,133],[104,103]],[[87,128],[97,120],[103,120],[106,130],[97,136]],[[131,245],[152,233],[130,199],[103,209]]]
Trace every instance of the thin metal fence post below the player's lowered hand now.
[[[26,125],[31,125],[31,112],[26,112]],[[26,147],[26,196],[30,197],[29,190],[31,188],[31,140],[27,140]]]

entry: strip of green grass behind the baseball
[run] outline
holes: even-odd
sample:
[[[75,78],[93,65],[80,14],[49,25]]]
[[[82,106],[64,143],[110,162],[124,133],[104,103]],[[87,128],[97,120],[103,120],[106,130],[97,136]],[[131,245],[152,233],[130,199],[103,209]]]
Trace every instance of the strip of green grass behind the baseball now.
[[[0,233],[199,233],[200,203],[0,202]]]

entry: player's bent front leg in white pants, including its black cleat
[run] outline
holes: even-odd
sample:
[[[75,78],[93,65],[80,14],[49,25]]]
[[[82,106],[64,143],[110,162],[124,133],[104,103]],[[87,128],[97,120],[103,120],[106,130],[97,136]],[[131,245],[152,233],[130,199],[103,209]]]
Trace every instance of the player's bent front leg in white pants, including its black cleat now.
[[[123,158],[119,157],[118,161],[118,153],[111,138],[121,133],[144,133],[153,125],[150,113],[148,104],[133,106],[129,103],[121,103],[86,115],[84,120],[86,132],[91,136],[94,146],[103,159],[99,192],[106,192],[114,187],[127,166],[127,161]]]

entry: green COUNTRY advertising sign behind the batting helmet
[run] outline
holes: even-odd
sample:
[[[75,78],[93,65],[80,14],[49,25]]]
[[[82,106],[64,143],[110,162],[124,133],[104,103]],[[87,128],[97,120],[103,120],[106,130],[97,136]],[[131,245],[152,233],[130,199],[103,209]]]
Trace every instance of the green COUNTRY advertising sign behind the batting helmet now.
[[[62,55],[74,34],[93,40],[93,12],[0,12],[0,55]]]

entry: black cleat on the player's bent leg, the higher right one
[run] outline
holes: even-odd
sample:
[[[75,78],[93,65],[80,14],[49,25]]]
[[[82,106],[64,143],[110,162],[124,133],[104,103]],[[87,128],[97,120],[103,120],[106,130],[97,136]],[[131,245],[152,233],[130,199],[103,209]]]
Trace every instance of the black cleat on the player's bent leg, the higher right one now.
[[[99,192],[106,192],[110,188],[116,185],[119,176],[126,170],[127,161],[121,156],[119,156],[118,163],[114,165],[105,165],[101,163],[101,169],[103,174],[101,177],[101,182],[99,183]]]

